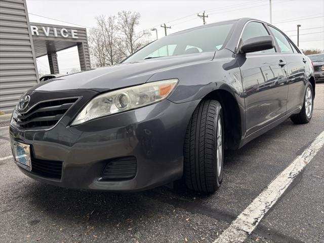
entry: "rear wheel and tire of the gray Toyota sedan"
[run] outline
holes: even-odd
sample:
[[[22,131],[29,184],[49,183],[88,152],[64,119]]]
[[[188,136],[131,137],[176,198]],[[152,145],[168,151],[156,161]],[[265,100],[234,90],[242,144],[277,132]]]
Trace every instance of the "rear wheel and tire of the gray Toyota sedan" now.
[[[304,95],[303,108],[298,114],[295,114],[292,117],[290,117],[293,123],[295,124],[309,123],[313,115],[313,107],[314,107],[313,87],[310,83],[308,83]]]

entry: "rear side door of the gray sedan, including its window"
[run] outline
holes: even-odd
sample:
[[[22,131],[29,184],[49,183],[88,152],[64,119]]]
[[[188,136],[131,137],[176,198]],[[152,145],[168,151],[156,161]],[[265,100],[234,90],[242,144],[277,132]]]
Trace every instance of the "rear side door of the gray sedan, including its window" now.
[[[285,58],[288,68],[288,99],[287,113],[292,112],[303,103],[306,79],[306,58],[301,54],[294,44],[280,30],[268,25],[277,42],[278,48]]]

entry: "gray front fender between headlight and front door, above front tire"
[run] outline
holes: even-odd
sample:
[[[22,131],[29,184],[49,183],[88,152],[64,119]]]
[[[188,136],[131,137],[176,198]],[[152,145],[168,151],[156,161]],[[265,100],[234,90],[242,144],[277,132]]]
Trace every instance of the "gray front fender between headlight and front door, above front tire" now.
[[[233,53],[227,49],[216,52],[211,61],[190,63],[157,72],[148,82],[169,78],[179,79],[177,88],[168,98],[174,103],[200,100],[218,89],[230,92],[237,99],[244,96],[239,67]]]

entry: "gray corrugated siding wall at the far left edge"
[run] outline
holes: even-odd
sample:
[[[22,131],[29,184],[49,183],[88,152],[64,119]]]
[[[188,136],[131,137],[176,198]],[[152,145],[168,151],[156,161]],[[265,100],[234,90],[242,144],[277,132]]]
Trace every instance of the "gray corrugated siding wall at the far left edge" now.
[[[0,2],[0,110],[12,111],[20,96],[37,84],[26,2]]]

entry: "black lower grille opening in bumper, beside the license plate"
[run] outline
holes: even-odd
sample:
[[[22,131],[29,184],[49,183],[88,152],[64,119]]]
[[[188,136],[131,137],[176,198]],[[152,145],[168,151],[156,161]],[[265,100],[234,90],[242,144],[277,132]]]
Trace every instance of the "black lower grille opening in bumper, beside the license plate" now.
[[[31,172],[43,177],[61,179],[62,165],[61,161],[31,158]]]

